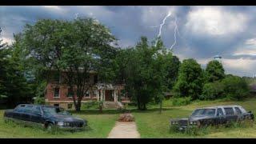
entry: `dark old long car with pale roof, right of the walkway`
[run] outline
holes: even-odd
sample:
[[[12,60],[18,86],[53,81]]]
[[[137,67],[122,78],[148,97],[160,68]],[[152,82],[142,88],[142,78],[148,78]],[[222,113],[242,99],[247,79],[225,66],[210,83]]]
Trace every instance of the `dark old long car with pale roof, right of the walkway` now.
[[[170,119],[170,126],[185,130],[188,127],[241,122],[246,119],[254,121],[254,114],[247,112],[242,106],[214,106],[196,109],[189,118]]]

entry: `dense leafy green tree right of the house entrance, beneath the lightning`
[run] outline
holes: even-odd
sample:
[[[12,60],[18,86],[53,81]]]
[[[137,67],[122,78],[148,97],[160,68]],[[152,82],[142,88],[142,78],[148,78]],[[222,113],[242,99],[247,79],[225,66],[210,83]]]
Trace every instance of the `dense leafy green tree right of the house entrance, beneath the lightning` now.
[[[122,63],[119,65],[122,81],[138,109],[146,110],[146,104],[154,100],[161,105],[164,92],[177,78],[178,66],[174,65],[179,65],[178,58],[167,52],[161,41],[157,46],[150,46],[146,37],[142,37],[134,48],[121,53],[118,63]]]

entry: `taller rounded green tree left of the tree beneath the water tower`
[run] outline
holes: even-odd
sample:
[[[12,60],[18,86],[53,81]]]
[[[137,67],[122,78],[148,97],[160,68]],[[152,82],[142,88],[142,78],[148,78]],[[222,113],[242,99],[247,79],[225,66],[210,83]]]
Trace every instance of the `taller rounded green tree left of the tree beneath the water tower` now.
[[[197,99],[202,93],[204,83],[201,66],[194,59],[185,59],[178,70],[178,81],[174,90],[180,97],[191,97]]]

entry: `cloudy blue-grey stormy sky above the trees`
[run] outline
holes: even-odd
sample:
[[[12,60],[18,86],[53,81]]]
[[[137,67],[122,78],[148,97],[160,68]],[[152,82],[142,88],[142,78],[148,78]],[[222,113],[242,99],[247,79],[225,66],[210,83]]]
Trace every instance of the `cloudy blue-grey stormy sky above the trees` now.
[[[118,38],[122,48],[134,46],[141,36],[174,44],[175,17],[178,34],[173,52],[182,61],[195,58],[204,68],[215,55],[222,56],[226,74],[256,74],[256,6],[0,6],[1,37],[13,42],[13,34],[39,19],[95,18]]]

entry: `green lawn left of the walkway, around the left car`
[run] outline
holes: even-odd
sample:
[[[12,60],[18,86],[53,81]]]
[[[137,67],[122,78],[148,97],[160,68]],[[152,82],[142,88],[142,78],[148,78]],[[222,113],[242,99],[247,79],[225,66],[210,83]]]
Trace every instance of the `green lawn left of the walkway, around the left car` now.
[[[73,133],[58,131],[52,134],[36,127],[5,123],[2,118],[3,112],[4,110],[0,110],[0,138],[106,138],[118,118],[118,111],[116,110],[104,110],[103,114],[99,114],[98,110],[72,112],[74,116],[86,118],[90,129]]]

